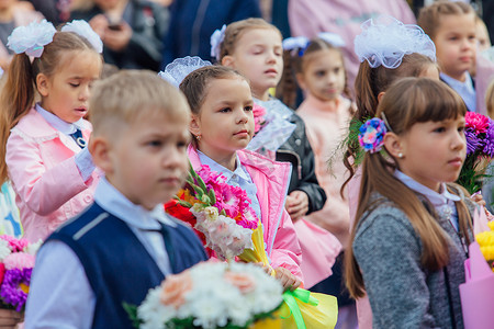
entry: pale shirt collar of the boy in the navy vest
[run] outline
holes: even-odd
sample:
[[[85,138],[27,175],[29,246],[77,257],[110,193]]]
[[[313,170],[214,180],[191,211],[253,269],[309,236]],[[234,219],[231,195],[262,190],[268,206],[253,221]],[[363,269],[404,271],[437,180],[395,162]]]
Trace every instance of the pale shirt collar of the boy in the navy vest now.
[[[167,217],[162,204],[158,204],[153,211],[136,205],[116,190],[105,178],[101,178],[98,183],[94,201],[106,212],[138,229],[160,229],[161,226],[158,222],[170,226],[177,225]]]

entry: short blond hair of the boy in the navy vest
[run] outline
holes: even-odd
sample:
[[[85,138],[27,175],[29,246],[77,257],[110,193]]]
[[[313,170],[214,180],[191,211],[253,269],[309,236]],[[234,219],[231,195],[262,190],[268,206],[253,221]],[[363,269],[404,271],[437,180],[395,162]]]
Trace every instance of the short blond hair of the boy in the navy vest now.
[[[94,84],[89,102],[93,135],[124,133],[125,124],[143,116],[167,115],[187,120],[190,109],[173,86],[146,70],[122,70]]]

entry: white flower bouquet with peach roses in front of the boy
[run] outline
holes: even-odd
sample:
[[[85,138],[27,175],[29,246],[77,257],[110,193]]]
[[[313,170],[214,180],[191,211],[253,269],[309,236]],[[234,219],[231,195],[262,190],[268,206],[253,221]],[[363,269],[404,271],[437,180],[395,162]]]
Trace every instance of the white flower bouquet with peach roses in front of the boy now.
[[[128,307],[135,327],[248,328],[272,318],[283,288],[259,266],[203,262],[168,275],[137,308]]]

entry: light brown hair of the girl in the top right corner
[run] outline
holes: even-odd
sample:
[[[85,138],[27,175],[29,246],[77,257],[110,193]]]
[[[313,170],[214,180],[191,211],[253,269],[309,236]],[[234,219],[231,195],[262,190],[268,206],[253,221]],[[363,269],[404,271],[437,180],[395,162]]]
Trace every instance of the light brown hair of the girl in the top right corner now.
[[[464,2],[440,0],[430,5],[424,7],[418,13],[417,23],[431,39],[435,38],[437,30],[440,26],[441,16],[473,14],[473,8]]]

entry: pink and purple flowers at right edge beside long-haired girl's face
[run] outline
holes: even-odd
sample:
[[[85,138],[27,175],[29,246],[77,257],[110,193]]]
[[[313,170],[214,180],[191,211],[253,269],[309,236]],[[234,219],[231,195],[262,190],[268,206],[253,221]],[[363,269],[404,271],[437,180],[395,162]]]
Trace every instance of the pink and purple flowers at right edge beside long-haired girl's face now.
[[[479,192],[485,179],[485,169],[494,156],[494,122],[485,115],[467,112],[465,115],[467,158],[458,183],[470,194]]]

